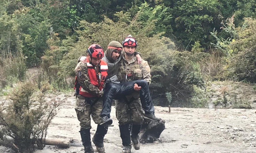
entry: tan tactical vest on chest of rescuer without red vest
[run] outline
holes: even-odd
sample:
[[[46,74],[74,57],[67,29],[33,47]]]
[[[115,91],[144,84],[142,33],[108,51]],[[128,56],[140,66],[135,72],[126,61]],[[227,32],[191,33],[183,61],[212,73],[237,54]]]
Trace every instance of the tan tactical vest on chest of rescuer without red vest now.
[[[138,64],[137,60],[135,60],[135,62],[130,63],[128,65],[126,65],[125,62],[126,61],[124,59],[121,59],[120,61],[121,78],[119,81],[127,82],[127,81],[142,79],[142,71],[140,69],[140,65]]]

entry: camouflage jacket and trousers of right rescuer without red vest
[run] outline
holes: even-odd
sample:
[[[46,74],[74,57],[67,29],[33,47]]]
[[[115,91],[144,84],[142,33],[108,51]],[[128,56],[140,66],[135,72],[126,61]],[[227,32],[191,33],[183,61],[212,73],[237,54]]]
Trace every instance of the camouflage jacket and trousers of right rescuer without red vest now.
[[[119,81],[127,82],[143,79],[150,84],[151,75],[150,67],[147,61],[142,60],[141,64],[137,63],[136,57],[129,62],[124,58],[120,61]],[[119,124],[133,123],[141,125],[143,122],[143,110],[140,102],[140,92],[126,96],[125,98],[115,100],[116,102],[116,118]]]

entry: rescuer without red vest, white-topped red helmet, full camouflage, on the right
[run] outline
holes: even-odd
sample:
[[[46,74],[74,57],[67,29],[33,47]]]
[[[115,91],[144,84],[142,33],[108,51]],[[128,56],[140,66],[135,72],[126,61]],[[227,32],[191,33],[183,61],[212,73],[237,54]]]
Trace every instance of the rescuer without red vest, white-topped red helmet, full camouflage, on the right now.
[[[148,83],[151,82],[150,67],[147,61],[142,60],[140,64],[133,56],[137,42],[131,36],[125,38],[123,41],[123,50],[125,54],[120,61],[118,79],[121,83],[134,80],[144,80]],[[132,94],[115,100],[116,102],[116,118],[119,121],[120,135],[123,142],[123,152],[131,152],[131,140],[135,150],[140,149],[139,137],[141,125],[143,123],[143,110],[140,101],[140,89],[135,84],[135,92]],[[130,128],[131,132],[130,132]],[[131,137],[130,137],[131,133]]]

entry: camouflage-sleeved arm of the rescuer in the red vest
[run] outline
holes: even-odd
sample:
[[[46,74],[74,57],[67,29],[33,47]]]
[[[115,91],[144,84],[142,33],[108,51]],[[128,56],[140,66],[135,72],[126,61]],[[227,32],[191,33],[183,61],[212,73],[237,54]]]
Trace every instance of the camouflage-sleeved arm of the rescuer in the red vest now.
[[[91,84],[86,63],[79,62],[75,69],[75,73],[77,75],[77,82],[84,90],[92,94],[98,94],[101,92],[98,87]]]

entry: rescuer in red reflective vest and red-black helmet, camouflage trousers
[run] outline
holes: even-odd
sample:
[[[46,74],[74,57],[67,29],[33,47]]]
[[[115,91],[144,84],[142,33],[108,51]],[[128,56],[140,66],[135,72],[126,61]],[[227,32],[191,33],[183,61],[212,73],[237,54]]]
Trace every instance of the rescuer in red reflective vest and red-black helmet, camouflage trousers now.
[[[85,148],[85,153],[94,153],[91,146],[91,117],[98,124],[93,143],[99,153],[105,153],[103,138],[108,131],[108,126],[99,125],[102,111],[102,91],[104,78],[107,77],[107,64],[102,61],[103,49],[93,44],[87,49],[87,62],[79,62],[75,68],[75,111],[80,121],[80,135]],[[91,79],[90,79],[91,78]]]

